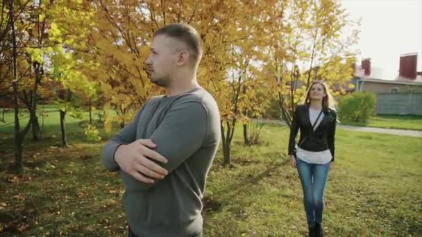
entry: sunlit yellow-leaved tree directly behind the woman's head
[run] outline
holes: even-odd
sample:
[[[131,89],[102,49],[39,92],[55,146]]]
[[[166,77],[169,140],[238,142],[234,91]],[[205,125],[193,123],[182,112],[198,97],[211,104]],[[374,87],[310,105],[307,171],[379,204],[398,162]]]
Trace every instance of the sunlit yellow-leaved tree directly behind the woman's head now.
[[[282,120],[290,125],[296,104],[303,98],[310,83],[316,78],[344,85],[352,78],[357,33],[343,38],[344,26],[353,21],[337,1],[282,1],[279,12],[273,12],[273,39],[267,64],[276,80],[273,91],[278,100]],[[309,67],[301,67],[307,64]],[[337,68],[346,69],[344,71]],[[334,69],[334,70],[333,70]],[[301,73],[303,71],[303,73]]]

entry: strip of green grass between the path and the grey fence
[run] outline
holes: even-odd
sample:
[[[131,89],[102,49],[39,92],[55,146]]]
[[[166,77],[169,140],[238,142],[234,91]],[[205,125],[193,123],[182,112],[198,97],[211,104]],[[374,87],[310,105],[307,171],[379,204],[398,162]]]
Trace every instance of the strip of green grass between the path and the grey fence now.
[[[416,115],[377,115],[366,123],[342,122],[344,125],[354,125],[373,128],[395,128],[422,131],[422,116]]]

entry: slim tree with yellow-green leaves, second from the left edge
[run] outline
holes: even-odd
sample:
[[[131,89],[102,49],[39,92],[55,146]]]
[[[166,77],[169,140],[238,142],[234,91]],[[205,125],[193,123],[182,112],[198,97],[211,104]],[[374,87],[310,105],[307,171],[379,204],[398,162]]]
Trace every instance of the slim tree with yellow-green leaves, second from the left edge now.
[[[66,14],[63,15],[62,13]],[[77,97],[94,97],[96,82],[88,80],[81,73],[83,70],[94,69],[94,63],[84,58],[87,51],[85,39],[88,29],[94,26],[92,22],[94,10],[88,3],[58,1],[51,15],[49,40],[53,50],[44,54],[51,60],[49,78],[55,89],[56,105],[60,112],[60,130],[62,146],[68,146],[66,136],[67,113],[77,114],[81,101]],[[77,27],[76,27],[77,26]]]

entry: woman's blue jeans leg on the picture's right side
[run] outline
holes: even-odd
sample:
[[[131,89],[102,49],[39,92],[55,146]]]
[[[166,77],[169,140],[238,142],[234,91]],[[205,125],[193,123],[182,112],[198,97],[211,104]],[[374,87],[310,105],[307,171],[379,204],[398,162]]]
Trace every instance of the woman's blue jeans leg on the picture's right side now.
[[[322,223],[322,213],[324,209],[323,195],[326,188],[328,170],[330,164],[314,164],[313,184],[312,184],[312,200],[315,211],[315,222]]]

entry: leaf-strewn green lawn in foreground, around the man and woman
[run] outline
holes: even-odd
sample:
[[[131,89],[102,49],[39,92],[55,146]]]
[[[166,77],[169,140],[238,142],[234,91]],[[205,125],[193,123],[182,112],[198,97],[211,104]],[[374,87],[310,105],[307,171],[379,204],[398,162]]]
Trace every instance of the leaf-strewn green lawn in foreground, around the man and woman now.
[[[0,128],[0,234],[126,236],[121,181],[100,164],[104,141],[85,141],[78,121],[69,121],[71,147],[57,147],[58,118],[49,119],[46,139],[26,141],[22,176],[10,169],[11,130]],[[287,127],[266,124],[262,144],[245,147],[238,127],[229,167],[219,149],[204,198],[205,236],[305,235],[287,138]],[[420,236],[421,147],[418,138],[339,129],[325,196],[326,236]]]

